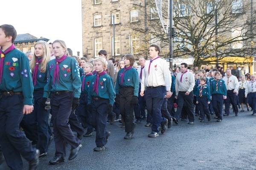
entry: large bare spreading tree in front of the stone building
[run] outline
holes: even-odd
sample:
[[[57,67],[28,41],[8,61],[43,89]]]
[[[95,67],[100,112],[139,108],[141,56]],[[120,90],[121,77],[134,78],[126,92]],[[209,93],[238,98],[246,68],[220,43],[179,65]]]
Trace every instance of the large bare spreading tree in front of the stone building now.
[[[168,57],[169,38],[154,13],[154,0],[136,8],[140,10],[140,24],[128,23],[126,26],[132,28],[134,34],[136,32],[140,44],[159,41],[164,49],[161,55]],[[173,56],[193,57],[196,66],[209,61],[218,63],[230,56],[244,59],[252,56],[255,53],[256,12],[250,10],[250,0],[174,0]],[[167,4],[163,5],[162,12],[163,19],[167,20]],[[143,47],[137,52],[142,55],[147,49]]]

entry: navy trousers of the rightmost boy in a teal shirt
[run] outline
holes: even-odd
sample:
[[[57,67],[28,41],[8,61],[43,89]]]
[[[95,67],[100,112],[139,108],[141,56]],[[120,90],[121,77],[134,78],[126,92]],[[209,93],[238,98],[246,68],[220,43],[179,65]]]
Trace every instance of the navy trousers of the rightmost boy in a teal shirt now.
[[[223,95],[215,94],[212,95],[212,107],[218,120],[222,120],[222,106],[223,106]]]

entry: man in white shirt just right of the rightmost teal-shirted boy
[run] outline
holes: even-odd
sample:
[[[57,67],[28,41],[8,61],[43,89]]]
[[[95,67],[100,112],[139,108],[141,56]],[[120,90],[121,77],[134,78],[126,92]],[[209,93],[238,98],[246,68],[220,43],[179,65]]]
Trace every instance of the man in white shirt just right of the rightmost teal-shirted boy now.
[[[236,76],[231,74],[230,69],[226,69],[226,74],[223,78],[226,88],[227,88],[227,99],[224,100],[225,103],[225,114],[224,116],[229,116],[230,114],[230,103],[233,106],[236,116],[238,116],[238,108],[236,102],[236,95],[238,95],[239,82]]]

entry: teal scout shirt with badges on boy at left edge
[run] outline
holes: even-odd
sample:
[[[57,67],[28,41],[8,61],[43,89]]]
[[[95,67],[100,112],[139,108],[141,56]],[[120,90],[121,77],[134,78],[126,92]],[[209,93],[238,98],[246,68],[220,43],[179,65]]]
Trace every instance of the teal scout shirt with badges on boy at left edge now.
[[[29,59],[18,49],[13,49],[4,57],[0,91],[22,92],[24,96],[23,104],[33,105],[34,85]]]

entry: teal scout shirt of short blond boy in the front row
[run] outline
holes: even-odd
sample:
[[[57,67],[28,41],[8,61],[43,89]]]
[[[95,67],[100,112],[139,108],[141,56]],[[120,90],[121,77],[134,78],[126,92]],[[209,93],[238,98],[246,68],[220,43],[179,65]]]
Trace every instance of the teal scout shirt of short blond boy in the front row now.
[[[88,89],[88,104],[91,104],[93,97],[100,97],[109,99],[109,104],[113,106],[115,102],[114,99],[116,98],[113,79],[108,74],[99,76],[98,95],[95,91],[93,91],[93,85],[95,80],[96,75],[93,75],[90,80],[90,85]]]

